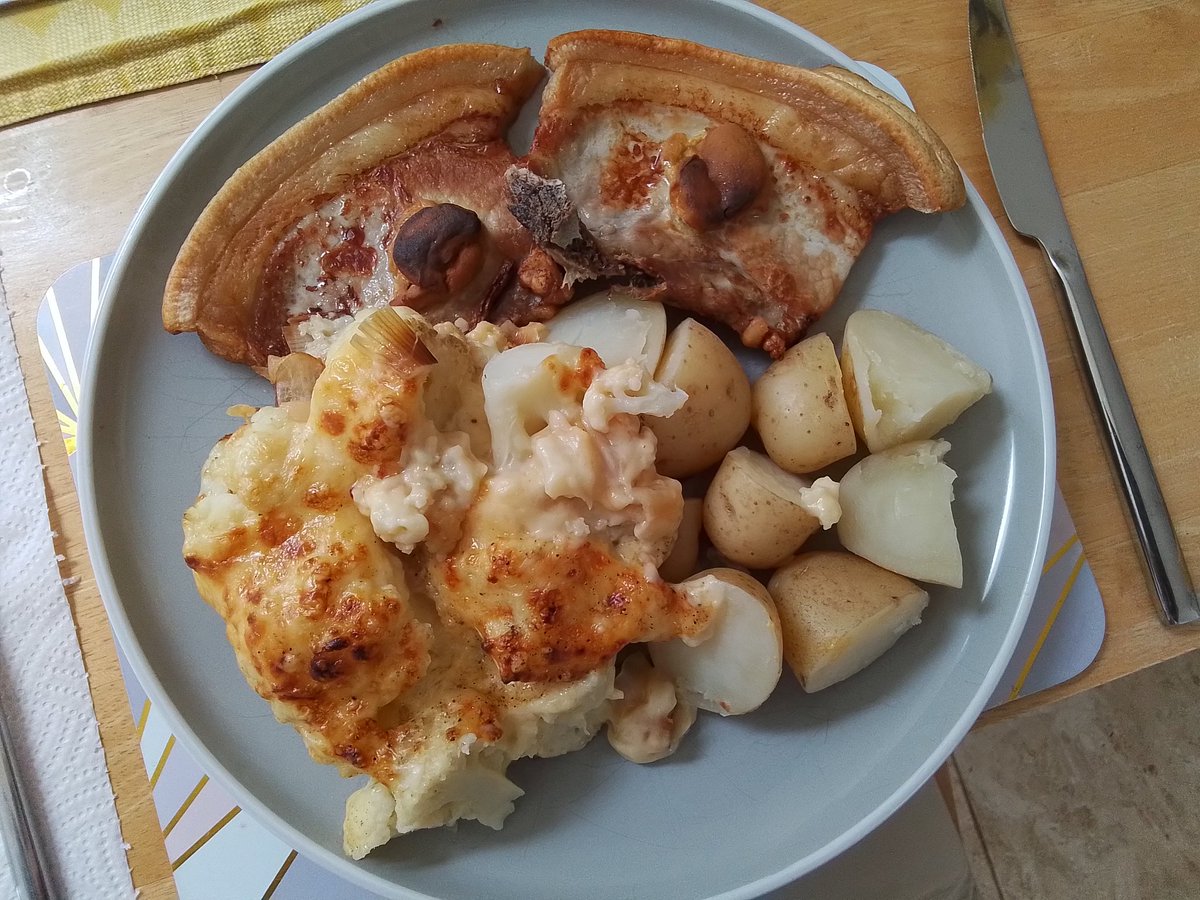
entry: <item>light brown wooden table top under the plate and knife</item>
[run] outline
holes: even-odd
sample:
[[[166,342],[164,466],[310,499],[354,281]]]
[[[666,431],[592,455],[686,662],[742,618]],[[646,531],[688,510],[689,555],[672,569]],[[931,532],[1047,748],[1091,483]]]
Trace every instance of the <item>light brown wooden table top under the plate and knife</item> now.
[[[1194,0],[1010,0],[1030,88],[1067,214],[1192,570],[1200,575],[1200,6]],[[1081,676],[1006,704],[1014,715],[1200,647],[1159,624],[1040,253],[1008,227],[988,172],[967,56],[966,4],[768,0],[766,6],[898,76],[983,192],[1037,307],[1054,380],[1058,480],[1108,612]],[[88,666],[130,863],[143,896],[174,895],[35,319],[68,265],[112,252],[156,173],[245,73],[0,131],[0,283],[7,292],[47,466],[50,516]],[[964,301],[968,301],[965,298]]]

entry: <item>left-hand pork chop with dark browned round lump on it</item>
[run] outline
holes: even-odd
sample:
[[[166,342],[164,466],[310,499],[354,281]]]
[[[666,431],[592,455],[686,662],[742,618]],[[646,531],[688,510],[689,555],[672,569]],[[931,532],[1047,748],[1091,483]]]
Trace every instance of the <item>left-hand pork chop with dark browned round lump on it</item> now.
[[[170,271],[163,324],[265,366],[361,307],[474,324],[560,302],[562,270],[504,188],[504,132],[541,74],[528,50],[454,44],[367,76],[212,198]]]

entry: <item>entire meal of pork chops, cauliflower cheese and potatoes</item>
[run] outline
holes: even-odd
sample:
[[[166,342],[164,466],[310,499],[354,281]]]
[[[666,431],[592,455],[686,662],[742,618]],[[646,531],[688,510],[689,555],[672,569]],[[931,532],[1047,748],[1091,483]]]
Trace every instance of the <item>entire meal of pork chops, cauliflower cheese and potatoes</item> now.
[[[856,426],[871,450],[932,436],[986,373],[882,313],[851,317],[841,364],[826,335],[787,349],[881,216],[962,203],[941,142],[836,68],[601,31],[547,65],[520,164],[527,50],[368,76],[234,174],[163,299],[169,330],[275,388],[230,408],[247,421],[204,464],[184,558],[276,718],[368,776],[354,858],[499,828],[514,760],[605,725],[661,760],[697,709],[766,701],[785,653],[828,686],[919,619],[928,595],[894,572],[962,580],[944,442],[840,486],[800,474],[852,455]],[[668,334],[664,302],[776,361],[751,389],[704,324]],[[738,446],[751,416],[768,455]],[[676,479],[718,463],[685,502]],[[839,518],[858,557],[793,559]],[[737,566],[782,568],[768,590]]]

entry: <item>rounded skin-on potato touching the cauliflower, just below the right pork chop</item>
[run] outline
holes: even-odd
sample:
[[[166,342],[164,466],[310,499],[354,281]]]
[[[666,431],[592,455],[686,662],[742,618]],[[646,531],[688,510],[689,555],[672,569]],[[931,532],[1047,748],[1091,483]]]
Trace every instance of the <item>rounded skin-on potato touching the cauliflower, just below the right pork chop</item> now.
[[[720,462],[750,425],[750,379],[737,356],[698,322],[684,319],[667,337],[654,378],[688,394],[674,415],[646,421],[659,439],[659,472],[686,478]]]

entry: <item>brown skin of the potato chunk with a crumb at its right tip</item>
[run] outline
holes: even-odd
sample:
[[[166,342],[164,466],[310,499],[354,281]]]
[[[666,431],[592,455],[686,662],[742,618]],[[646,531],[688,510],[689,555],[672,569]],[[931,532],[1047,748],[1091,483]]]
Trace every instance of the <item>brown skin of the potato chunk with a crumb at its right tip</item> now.
[[[721,462],[704,494],[704,533],[731,563],[770,569],[799,550],[821,522],[755,476],[755,455],[738,448]]]

